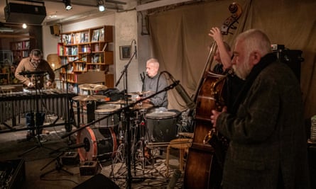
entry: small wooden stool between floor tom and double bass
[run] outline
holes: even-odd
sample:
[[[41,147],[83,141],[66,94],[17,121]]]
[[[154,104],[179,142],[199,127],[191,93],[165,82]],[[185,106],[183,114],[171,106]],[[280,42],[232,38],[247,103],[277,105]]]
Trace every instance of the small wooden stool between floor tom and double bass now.
[[[185,150],[189,149],[192,143],[192,139],[173,139],[170,141],[167,147],[167,155],[165,159],[165,164],[167,166],[167,170],[165,176],[169,176],[169,153],[170,148],[179,149],[179,168],[180,171],[183,171],[183,157],[185,156]]]

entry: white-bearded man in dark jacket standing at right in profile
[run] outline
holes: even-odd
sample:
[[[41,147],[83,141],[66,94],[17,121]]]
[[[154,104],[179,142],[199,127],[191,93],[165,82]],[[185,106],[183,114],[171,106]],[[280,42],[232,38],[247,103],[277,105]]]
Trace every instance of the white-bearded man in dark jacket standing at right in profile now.
[[[244,86],[231,110],[211,116],[230,141],[223,188],[310,188],[302,94],[293,71],[271,53],[261,30],[241,33],[233,53]]]

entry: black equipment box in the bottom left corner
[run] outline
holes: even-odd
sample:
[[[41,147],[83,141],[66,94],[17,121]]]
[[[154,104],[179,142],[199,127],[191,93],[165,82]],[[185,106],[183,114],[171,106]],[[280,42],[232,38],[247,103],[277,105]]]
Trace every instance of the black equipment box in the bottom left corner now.
[[[0,188],[22,188],[26,181],[26,167],[23,159],[0,161]]]

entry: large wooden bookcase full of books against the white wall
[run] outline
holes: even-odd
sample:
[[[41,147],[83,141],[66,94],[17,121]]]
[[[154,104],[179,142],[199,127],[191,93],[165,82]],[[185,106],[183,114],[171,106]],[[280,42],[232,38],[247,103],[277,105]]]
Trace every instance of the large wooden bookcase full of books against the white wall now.
[[[108,73],[109,65],[114,64],[114,52],[109,50],[113,30],[113,26],[103,25],[60,34],[58,57],[61,65],[68,64],[67,69],[60,69],[60,80],[67,79],[71,85],[68,88],[79,91],[77,86],[87,81],[85,77],[91,76],[92,72],[93,76],[97,76],[95,83],[114,87],[114,74]]]

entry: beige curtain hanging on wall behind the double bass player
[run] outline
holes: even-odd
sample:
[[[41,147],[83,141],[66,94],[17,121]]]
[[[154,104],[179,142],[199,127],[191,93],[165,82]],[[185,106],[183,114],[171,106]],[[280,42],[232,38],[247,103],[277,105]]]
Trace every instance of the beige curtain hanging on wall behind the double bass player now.
[[[244,0],[236,30],[224,36],[230,45],[236,35],[249,28],[265,31],[273,44],[290,50],[302,50],[301,88],[305,117],[316,114],[316,1],[314,0]],[[211,1],[180,6],[148,16],[153,53],[161,71],[168,71],[190,96],[197,92],[212,39],[209,29],[231,16],[232,1]],[[168,91],[169,108],[184,110],[185,103],[175,90]]]

